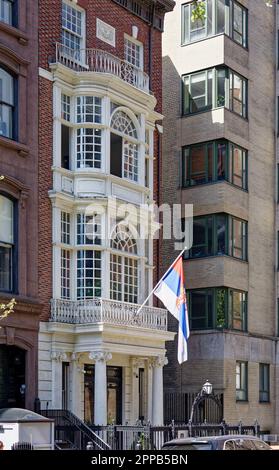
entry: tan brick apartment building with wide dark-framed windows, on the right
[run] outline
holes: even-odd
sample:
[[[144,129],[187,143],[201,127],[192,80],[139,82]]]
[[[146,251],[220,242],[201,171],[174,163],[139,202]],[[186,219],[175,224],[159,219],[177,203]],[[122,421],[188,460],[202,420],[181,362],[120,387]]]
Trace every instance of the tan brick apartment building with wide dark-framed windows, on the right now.
[[[178,0],[163,39],[161,197],[194,210],[189,360],[180,367],[170,344],[165,390],[196,393],[208,379],[227,422],[257,418],[274,431],[277,5],[204,3],[204,20],[193,20],[193,3]],[[163,243],[162,272],[176,254]]]

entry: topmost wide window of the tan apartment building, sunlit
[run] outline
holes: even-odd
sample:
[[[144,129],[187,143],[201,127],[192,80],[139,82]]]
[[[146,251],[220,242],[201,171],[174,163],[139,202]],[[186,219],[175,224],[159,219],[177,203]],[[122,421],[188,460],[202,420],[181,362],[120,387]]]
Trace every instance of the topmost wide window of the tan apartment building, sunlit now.
[[[248,43],[248,10],[235,0],[204,0],[205,17],[192,19],[193,3],[182,5],[182,44],[227,34],[243,47]]]

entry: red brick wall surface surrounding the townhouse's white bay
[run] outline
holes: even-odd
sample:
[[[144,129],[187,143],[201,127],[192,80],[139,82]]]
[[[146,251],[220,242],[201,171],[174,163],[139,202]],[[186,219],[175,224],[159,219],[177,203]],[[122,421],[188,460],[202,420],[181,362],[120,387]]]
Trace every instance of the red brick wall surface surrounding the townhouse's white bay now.
[[[39,2],[39,66],[49,70],[55,57],[55,43],[61,42],[61,5],[56,0]],[[73,3],[75,5],[75,3]],[[132,26],[138,27],[138,40],[144,45],[144,70],[150,76],[151,88],[157,99],[156,111],[162,110],[162,51],[161,32],[141,18],[117,5],[112,0],[79,0],[77,5],[86,10],[86,47],[108,51],[124,58],[124,33],[131,35]],[[99,18],[116,30],[116,47],[96,38],[96,19]],[[39,292],[44,304],[42,320],[49,315],[52,297],[52,229],[51,204],[48,191],[52,188],[52,83],[40,77],[40,150],[39,150],[39,202],[40,202],[40,254]],[[154,142],[154,198],[158,200],[160,157],[158,135]],[[154,243],[154,280],[158,272],[158,242]]]

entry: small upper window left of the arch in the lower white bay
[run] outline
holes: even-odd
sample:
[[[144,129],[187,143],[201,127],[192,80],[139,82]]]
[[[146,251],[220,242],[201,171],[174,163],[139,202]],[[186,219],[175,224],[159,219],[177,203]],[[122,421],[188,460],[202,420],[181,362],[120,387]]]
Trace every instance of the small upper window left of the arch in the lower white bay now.
[[[101,216],[77,214],[77,244],[101,245]]]

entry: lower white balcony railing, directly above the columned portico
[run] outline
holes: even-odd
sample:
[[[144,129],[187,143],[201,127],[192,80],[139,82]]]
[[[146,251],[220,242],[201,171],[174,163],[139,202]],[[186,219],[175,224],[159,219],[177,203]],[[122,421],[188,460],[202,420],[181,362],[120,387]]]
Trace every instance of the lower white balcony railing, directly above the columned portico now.
[[[108,323],[167,331],[167,311],[156,307],[143,307],[116,300],[59,300],[51,301],[51,321],[70,324]]]

